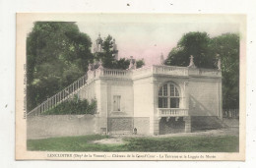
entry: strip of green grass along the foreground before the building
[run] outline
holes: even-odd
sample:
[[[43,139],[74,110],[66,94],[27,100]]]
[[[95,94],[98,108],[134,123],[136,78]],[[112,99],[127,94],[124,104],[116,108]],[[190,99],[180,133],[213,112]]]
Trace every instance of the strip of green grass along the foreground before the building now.
[[[124,144],[96,144],[93,140],[109,136],[28,140],[28,150],[36,151],[166,151],[166,152],[238,152],[238,137],[125,138]]]

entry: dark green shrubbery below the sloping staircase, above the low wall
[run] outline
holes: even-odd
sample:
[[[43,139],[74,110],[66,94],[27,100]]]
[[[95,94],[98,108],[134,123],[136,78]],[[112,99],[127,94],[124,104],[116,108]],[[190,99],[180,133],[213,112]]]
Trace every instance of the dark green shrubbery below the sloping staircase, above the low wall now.
[[[52,109],[44,112],[44,115],[64,115],[64,114],[95,114],[96,100],[91,103],[87,99],[81,100],[78,96],[64,101]]]

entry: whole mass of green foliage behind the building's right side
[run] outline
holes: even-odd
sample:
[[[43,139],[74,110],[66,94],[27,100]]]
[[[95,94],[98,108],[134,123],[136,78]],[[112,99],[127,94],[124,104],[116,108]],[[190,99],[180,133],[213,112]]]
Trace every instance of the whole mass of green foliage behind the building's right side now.
[[[188,32],[168,54],[166,65],[188,66],[194,56],[198,68],[217,68],[217,55],[222,60],[223,107],[239,107],[239,35],[224,33],[210,38],[206,32]]]

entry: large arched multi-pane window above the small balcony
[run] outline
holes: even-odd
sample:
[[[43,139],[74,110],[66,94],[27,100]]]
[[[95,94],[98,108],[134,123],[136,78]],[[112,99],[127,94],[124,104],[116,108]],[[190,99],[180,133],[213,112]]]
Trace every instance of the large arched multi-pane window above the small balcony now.
[[[159,108],[179,108],[179,92],[174,84],[163,84],[159,90]]]

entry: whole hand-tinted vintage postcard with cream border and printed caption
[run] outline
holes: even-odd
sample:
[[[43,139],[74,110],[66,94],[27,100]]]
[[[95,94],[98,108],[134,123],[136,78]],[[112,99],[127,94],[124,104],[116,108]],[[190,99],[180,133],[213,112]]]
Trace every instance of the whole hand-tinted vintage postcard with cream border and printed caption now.
[[[17,160],[245,160],[245,15],[17,14]]]

